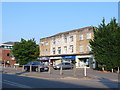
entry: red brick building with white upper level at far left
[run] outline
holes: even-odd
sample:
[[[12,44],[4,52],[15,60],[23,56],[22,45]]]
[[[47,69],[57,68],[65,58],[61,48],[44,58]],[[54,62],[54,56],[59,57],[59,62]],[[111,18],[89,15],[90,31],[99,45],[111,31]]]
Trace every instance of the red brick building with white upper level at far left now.
[[[5,65],[14,65],[16,60],[11,57],[10,51],[13,47],[14,42],[6,42],[0,45],[0,62]]]

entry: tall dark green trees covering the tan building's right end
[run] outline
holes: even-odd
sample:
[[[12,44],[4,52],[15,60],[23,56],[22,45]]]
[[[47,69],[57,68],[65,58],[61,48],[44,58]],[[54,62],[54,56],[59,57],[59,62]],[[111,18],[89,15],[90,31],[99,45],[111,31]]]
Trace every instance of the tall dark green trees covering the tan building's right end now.
[[[120,67],[120,26],[116,19],[105,24],[105,19],[94,28],[94,39],[90,41],[95,60],[107,69]]]

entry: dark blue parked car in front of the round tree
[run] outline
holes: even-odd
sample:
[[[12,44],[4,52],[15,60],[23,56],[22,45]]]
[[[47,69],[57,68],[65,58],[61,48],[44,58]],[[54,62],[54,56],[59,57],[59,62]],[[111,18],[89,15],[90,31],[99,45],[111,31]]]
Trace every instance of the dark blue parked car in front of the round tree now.
[[[30,71],[30,65],[32,66],[32,71],[37,72],[38,71],[38,65],[40,65],[40,72],[49,70],[48,66],[45,66],[43,63],[38,62],[38,61],[31,61],[31,62],[27,63],[26,65],[24,65],[25,71]]]

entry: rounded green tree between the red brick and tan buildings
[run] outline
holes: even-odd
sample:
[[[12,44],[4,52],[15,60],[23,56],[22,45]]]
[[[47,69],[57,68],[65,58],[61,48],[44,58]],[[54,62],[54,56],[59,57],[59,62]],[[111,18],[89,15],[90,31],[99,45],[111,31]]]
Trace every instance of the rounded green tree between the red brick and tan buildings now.
[[[39,56],[39,46],[34,39],[28,41],[21,38],[20,42],[15,42],[11,53],[20,65],[24,65],[30,61],[37,60]]]

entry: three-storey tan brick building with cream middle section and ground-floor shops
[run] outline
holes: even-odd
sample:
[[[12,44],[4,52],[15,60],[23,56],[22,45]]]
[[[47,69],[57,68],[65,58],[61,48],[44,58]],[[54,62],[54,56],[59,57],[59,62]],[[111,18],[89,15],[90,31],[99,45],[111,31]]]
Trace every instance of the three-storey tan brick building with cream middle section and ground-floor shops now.
[[[95,68],[89,41],[93,39],[93,27],[84,27],[40,39],[40,60],[50,60],[53,65],[76,62],[77,68],[85,65]]]

